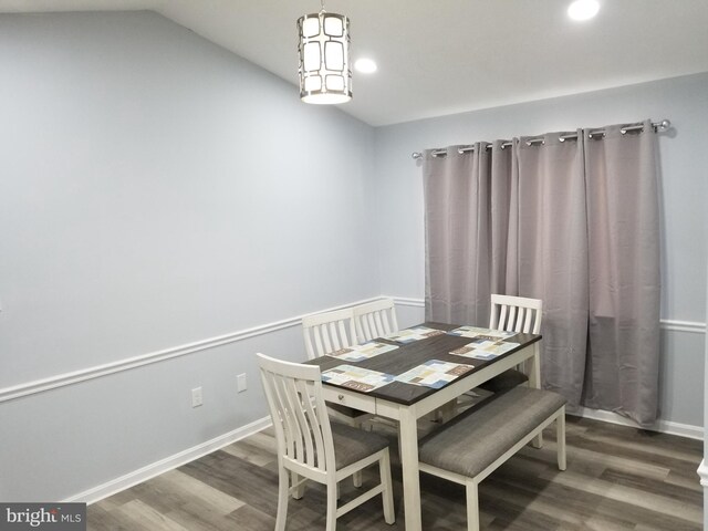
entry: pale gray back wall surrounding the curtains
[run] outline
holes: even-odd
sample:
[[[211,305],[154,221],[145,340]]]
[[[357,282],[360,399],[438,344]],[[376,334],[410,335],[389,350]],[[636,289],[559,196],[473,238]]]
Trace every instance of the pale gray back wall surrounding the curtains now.
[[[702,426],[708,204],[708,74],[444,116],[376,129],[384,293],[424,298],[423,184],[412,152],[650,117],[669,118],[662,157],[660,418]],[[691,323],[683,326],[681,322]],[[688,329],[687,331],[679,329]]]

